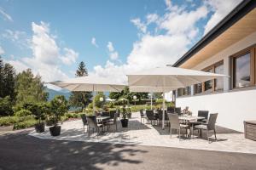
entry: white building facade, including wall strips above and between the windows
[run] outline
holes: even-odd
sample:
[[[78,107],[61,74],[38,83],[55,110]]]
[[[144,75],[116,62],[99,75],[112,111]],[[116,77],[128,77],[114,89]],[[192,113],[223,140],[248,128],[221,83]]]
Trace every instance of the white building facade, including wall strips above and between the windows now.
[[[224,74],[230,75],[230,55],[256,44],[256,32],[241,39],[229,48],[196,65],[195,70],[202,70],[220,60],[224,60]],[[256,120],[256,88],[239,91],[230,90],[230,78],[224,78],[224,92],[217,94],[199,94],[177,98],[177,106],[189,106],[193,114],[207,110],[218,113],[217,124],[243,132],[243,121]]]

